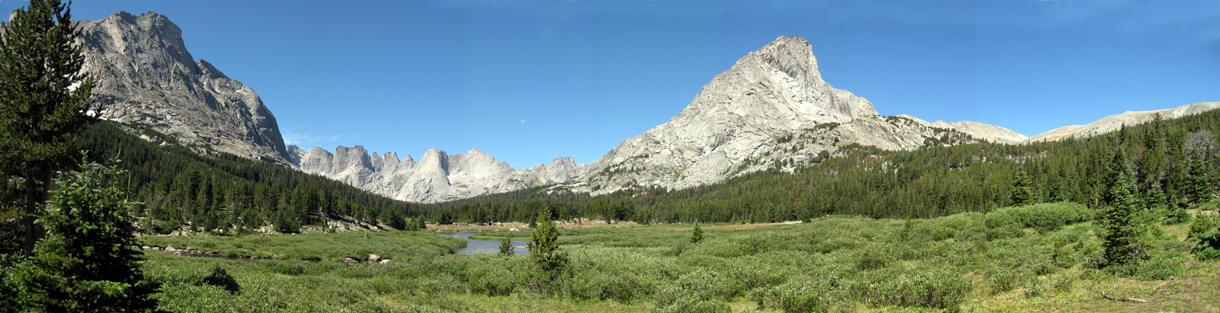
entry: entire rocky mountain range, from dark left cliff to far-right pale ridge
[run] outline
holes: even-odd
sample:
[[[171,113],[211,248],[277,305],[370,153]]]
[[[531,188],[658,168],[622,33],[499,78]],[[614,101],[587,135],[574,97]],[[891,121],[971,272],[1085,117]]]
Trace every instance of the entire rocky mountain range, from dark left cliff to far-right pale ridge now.
[[[969,121],[884,117],[869,100],[824,80],[804,38],[780,37],[711,78],[669,122],[623,140],[601,158],[576,164],[560,157],[515,169],[478,150],[449,155],[431,149],[416,161],[359,145],[337,146],[333,153],[285,146],[259,95],[211,63],[194,61],[182,29],[165,16],[118,12],[79,26],[85,69],[100,82],[94,97],[107,106],[102,118],[155,129],[199,152],[264,160],[410,202],[545,185],[594,195],[639,186],[683,189],[769,168],[793,171],[849,145],[914,150],[980,141],[1026,144],[1092,136],[1158,116],[1176,118],[1220,107],[1205,102],[1126,112],[1032,138]]]

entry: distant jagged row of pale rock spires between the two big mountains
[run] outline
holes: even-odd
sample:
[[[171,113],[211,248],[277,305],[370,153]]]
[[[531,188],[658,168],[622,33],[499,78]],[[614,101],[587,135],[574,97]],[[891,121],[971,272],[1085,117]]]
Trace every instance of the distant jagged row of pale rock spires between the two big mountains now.
[[[289,161],[300,171],[323,175],[371,192],[410,202],[442,202],[486,194],[566,181],[583,174],[571,157],[555,158],[550,164],[514,169],[508,163],[478,150],[448,155],[429,149],[416,162],[411,155],[395,152],[378,156],[364,146],[338,146],[334,153],[321,147],[305,151],[288,146]]]

